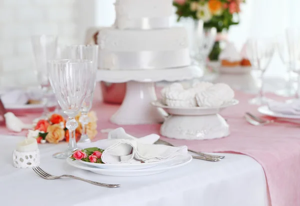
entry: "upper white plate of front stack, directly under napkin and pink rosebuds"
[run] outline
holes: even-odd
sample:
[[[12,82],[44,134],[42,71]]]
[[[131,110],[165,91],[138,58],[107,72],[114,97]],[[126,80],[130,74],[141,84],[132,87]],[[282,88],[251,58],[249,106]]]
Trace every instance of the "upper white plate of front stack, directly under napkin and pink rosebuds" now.
[[[159,162],[151,162],[151,163],[122,163],[122,164],[98,164],[98,163],[89,163],[84,162],[81,160],[76,160],[84,165],[96,167],[96,168],[102,168],[102,169],[108,169],[108,170],[140,170],[140,169],[146,169],[146,168],[152,168],[157,165],[164,164],[169,160],[159,161]]]

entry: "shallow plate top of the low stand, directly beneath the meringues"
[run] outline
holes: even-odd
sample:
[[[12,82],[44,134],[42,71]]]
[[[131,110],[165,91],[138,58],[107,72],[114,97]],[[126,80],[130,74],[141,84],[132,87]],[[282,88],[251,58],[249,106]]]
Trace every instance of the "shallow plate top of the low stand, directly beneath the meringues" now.
[[[238,104],[238,100],[232,99],[230,102],[227,102],[220,107],[170,107],[164,105],[161,100],[156,100],[151,102],[154,107],[159,107],[165,110],[168,114],[172,115],[185,115],[185,116],[199,116],[199,115],[210,115],[217,114],[222,109]]]

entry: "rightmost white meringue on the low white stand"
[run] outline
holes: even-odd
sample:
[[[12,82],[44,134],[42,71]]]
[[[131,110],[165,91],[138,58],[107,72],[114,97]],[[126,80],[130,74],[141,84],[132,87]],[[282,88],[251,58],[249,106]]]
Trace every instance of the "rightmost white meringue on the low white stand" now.
[[[215,84],[195,95],[199,107],[219,107],[232,100],[233,97],[234,91],[223,83]]]

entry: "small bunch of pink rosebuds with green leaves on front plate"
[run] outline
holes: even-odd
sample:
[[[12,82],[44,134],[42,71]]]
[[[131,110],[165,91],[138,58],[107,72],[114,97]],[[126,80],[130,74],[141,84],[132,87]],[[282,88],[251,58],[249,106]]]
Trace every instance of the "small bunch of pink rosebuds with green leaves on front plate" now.
[[[73,161],[81,160],[81,161],[89,162],[89,163],[103,164],[103,162],[101,160],[103,151],[104,150],[97,148],[97,147],[86,148],[83,150],[76,150],[73,152],[73,154],[70,158]]]

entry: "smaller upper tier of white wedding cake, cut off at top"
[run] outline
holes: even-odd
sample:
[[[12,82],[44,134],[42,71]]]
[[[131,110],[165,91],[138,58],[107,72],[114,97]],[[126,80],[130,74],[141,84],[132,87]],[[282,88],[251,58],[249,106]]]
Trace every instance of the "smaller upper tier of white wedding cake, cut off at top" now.
[[[169,27],[172,0],[116,0],[115,26],[120,29]]]

